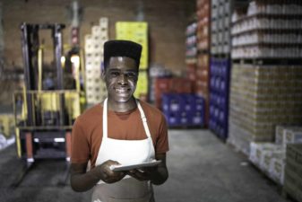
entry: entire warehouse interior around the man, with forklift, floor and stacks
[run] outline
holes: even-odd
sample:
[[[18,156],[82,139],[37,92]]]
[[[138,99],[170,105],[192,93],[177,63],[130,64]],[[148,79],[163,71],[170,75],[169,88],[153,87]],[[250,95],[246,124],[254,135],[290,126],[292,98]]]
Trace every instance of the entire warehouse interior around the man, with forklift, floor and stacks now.
[[[142,45],[134,96],[168,124],[156,201],[302,202],[299,0],[1,0],[0,202],[91,201],[71,138],[107,40]]]

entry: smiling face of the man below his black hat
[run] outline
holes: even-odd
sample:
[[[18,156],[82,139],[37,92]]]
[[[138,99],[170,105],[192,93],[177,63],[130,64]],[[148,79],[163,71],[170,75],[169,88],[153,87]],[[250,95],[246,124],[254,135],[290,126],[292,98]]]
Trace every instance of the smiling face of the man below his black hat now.
[[[138,78],[138,67],[130,57],[110,57],[105,72],[108,98],[117,102],[129,101]]]

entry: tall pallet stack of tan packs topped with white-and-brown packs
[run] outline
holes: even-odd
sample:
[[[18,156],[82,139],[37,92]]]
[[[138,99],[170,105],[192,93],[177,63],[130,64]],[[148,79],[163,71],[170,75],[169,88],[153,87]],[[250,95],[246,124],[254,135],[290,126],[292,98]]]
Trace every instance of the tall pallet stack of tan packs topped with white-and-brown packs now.
[[[252,1],[232,15],[228,141],[245,154],[250,142],[272,141],[276,125],[302,122],[300,8]]]

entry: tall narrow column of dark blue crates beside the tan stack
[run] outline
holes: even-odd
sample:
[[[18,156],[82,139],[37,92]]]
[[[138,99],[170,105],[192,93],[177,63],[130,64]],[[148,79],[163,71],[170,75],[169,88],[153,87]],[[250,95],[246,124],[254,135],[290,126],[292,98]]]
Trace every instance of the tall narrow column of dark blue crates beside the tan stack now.
[[[211,59],[210,129],[222,139],[228,137],[229,59]]]

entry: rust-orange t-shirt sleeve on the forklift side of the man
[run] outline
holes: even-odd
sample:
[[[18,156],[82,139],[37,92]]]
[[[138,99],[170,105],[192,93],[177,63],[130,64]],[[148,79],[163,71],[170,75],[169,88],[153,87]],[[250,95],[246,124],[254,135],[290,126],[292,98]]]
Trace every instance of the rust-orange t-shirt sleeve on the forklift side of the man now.
[[[72,163],[88,162],[90,159],[90,146],[85,136],[81,119],[76,119],[72,131]]]

